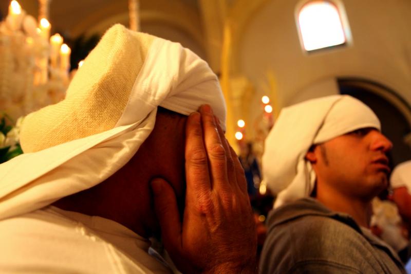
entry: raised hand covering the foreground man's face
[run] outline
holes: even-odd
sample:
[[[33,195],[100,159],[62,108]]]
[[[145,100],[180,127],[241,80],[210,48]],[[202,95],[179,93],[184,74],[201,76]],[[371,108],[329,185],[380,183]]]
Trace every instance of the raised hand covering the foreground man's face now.
[[[173,189],[152,188],[162,240],[185,273],[255,273],[256,233],[244,171],[208,105],[189,116],[182,222]]]

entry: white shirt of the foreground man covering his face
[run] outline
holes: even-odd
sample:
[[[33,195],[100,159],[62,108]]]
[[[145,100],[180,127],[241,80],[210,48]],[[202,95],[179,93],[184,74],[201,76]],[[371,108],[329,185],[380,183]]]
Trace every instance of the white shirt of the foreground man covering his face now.
[[[53,206],[0,221],[0,243],[2,273],[171,273],[119,223]]]

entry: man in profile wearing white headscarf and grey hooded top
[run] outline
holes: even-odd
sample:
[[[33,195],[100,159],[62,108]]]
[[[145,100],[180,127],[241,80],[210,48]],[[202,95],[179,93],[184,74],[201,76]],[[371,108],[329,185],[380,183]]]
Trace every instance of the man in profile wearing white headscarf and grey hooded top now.
[[[387,188],[391,142],[369,107],[328,96],[286,107],[266,139],[263,176],[277,194],[262,273],[404,273],[368,229]]]

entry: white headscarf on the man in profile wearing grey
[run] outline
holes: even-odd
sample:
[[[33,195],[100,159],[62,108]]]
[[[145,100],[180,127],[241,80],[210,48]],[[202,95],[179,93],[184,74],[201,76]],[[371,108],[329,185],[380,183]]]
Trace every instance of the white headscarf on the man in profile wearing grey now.
[[[278,194],[274,207],[311,194],[315,173],[305,160],[311,145],[363,127],[381,128],[368,106],[346,95],[312,99],[282,109],[263,154],[263,178]]]

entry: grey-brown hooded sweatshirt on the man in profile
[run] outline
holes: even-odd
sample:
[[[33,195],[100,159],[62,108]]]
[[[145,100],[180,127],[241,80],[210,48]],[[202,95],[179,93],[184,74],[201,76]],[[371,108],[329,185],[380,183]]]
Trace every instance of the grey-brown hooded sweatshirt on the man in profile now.
[[[387,244],[313,198],[281,206],[267,220],[260,273],[405,273]]]

